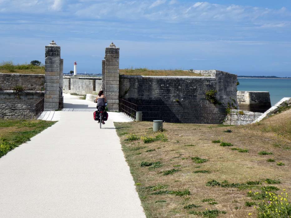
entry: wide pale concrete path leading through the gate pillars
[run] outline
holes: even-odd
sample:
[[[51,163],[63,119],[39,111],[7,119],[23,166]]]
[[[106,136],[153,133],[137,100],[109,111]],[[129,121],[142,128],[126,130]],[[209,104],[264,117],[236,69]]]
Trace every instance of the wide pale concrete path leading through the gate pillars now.
[[[113,125],[130,119],[110,113],[99,129],[95,103],[65,95],[64,106],[51,112],[60,121],[0,158],[0,217],[144,218]]]

